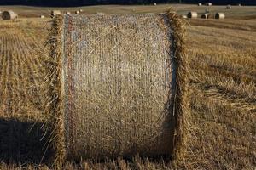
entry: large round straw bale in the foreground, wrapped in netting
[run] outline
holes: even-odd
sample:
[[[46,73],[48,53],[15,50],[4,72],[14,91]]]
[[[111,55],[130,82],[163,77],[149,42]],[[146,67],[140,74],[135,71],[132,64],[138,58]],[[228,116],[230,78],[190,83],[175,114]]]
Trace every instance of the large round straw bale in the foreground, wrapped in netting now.
[[[56,165],[182,157],[188,102],[179,16],[58,16],[49,40]]]

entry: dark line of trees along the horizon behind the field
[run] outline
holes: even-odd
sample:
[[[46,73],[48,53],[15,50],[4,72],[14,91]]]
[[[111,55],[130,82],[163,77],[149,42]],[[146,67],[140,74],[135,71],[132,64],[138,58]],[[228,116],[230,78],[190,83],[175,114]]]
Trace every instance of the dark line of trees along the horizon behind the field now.
[[[83,6],[98,4],[207,3],[256,5],[256,0],[0,0],[0,5]]]

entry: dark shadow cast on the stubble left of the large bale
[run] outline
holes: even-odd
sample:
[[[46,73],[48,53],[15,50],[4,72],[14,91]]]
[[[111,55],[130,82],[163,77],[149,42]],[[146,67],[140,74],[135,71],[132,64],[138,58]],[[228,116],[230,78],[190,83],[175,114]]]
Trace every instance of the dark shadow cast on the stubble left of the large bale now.
[[[42,122],[0,119],[0,161],[19,165],[47,163],[50,149],[45,146],[45,140],[49,138],[42,126]]]

